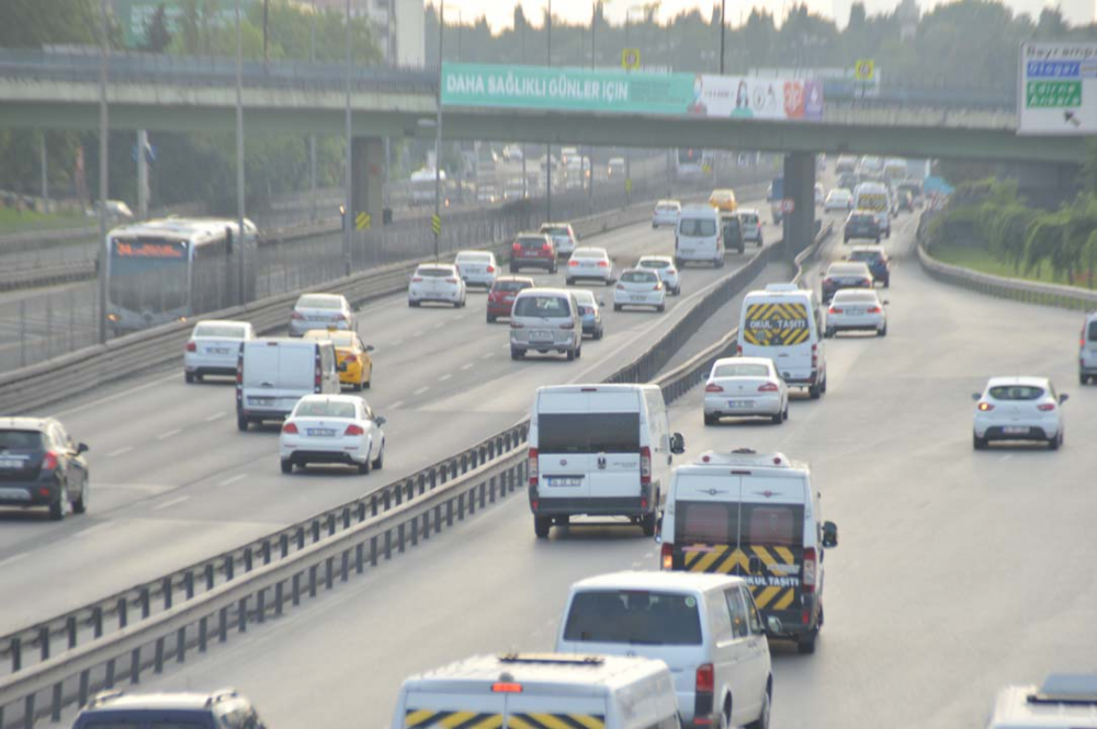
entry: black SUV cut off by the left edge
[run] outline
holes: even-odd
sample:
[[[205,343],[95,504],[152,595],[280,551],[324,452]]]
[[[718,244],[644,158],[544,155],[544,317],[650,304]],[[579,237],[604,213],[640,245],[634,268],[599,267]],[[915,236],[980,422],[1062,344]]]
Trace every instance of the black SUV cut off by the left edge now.
[[[52,519],[88,510],[88,446],[52,418],[0,419],[0,506],[46,506]]]

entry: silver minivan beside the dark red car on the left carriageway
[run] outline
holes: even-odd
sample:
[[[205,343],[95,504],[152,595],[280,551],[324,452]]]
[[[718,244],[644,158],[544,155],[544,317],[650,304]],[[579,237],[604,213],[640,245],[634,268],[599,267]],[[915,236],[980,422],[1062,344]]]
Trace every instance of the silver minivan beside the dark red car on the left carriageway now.
[[[510,357],[521,360],[530,350],[552,351],[578,360],[583,349],[583,320],[572,292],[527,288],[518,293],[510,315]]]

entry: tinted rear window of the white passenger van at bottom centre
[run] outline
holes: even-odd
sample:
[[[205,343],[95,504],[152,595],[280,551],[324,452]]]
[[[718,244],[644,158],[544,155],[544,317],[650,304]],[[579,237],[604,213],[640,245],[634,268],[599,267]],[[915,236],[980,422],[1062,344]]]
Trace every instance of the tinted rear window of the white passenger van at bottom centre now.
[[[646,590],[591,590],[572,600],[564,640],[700,646],[697,597]]]

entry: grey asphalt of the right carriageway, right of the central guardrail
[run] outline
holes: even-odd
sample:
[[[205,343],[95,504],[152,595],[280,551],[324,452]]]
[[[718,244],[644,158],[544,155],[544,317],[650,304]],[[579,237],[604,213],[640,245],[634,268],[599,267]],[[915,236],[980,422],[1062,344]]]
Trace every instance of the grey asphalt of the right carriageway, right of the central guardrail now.
[[[887,338],[828,341],[822,400],[798,397],[780,426],[705,428],[699,389],[671,408],[688,457],[749,446],[811,463],[839,525],[816,654],[772,646],[778,729],[976,727],[1004,684],[1093,670],[1097,389],[1076,385],[1078,315],[928,278],[914,227],[904,216],[886,241]],[[1062,451],[972,449],[970,394],[1013,373],[1071,394]],[[233,685],[271,726],[382,727],[407,674],[548,649],[573,581],[655,568],[656,556],[632,527],[538,540],[520,494],[144,688]]]

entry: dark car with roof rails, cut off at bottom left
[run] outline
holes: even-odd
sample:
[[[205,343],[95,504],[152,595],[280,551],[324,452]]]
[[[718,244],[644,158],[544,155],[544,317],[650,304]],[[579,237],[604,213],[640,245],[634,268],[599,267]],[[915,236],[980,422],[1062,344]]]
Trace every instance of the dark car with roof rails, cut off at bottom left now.
[[[103,692],[80,710],[72,729],[264,729],[264,726],[247,698],[231,688],[224,688],[210,694]]]

